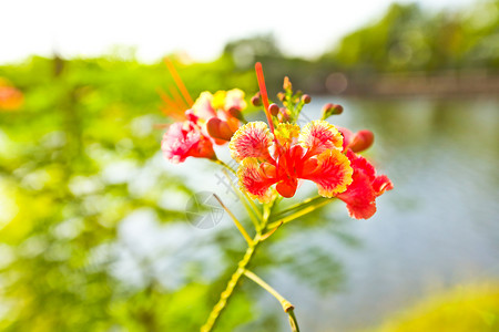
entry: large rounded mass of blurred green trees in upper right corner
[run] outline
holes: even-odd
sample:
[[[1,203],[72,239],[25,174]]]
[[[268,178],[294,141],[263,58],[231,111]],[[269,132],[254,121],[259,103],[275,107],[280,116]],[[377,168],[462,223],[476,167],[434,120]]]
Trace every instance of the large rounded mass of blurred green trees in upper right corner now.
[[[499,69],[499,1],[428,14],[393,4],[375,24],[345,37],[325,55],[348,70],[375,72]]]

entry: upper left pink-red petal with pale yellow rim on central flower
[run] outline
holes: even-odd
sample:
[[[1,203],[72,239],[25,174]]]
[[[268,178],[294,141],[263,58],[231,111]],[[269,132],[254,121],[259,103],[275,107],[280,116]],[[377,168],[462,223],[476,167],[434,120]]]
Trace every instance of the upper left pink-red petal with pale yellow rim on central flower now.
[[[231,156],[241,162],[247,157],[269,158],[268,147],[272,144],[272,134],[264,122],[251,122],[240,127],[232,136],[228,148]]]

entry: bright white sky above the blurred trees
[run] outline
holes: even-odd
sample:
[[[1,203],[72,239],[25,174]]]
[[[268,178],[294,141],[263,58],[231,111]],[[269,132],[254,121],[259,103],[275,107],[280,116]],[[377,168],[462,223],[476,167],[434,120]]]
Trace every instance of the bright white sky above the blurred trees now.
[[[110,54],[133,46],[140,61],[172,52],[216,59],[228,41],[273,33],[291,55],[314,58],[346,33],[375,22],[393,0],[0,0],[0,63],[32,54]],[[419,0],[441,9],[473,0]]]

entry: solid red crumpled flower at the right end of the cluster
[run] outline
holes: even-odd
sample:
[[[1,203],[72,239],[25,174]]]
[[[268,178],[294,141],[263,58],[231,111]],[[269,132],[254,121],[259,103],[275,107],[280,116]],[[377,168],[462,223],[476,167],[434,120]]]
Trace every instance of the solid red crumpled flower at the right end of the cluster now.
[[[375,167],[363,156],[349,148],[346,155],[354,169],[353,183],[336,197],[347,204],[350,217],[368,219],[376,212],[376,197],[391,190],[394,185],[386,175],[377,176]]]

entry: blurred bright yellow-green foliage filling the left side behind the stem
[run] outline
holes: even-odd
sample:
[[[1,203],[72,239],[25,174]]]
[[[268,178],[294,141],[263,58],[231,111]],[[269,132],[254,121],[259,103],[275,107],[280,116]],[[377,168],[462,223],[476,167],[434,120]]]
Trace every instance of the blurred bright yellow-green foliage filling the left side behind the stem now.
[[[253,71],[237,71],[224,58],[175,65],[193,96],[235,86],[256,91]],[[0,76],[24,94],[20,110],[0,112],[0,329],[197,330],[244,253],[242,239],[234,229],[222,228],[202,231],[202,240],[187,238],[186,255],[179,249],[142,255],[141,243],[125,243],[126,226],[121,225],[136,211],[147,211],[161,220],[157,231],[172,225],[174,234],[182,225],[195,234],[185,221],[185,203],[164,203],[189,198],[196,189],[163,169],[164,129],[157,125],[171,120],[161,114],[157,91],[173,84],[166,66],[113,58],[32,58],[0,68]],[[215,169],[206,160],[196,165]],[[307,273],[297,278],[330,289],[336,283],[328,276],[342,279],[339,262],[324,250],[315,248],[297,262],[268,250],[262,248],[255,260],[262,269],[276,262],[289,270],[319,264],[322,273],[313,279]],[[194,257],[204,251],[220,252],[222,259],[206,267]],[[123,261],[134,263],[123,270]],[[162,262],[173,267],[159,273]],[[180,281],[163,280],[169,278]],[[218,331],[242,324],[241,331],[276,331],[278,305],[244,328],[258,311],[252,303],[263,294],[245,284],[231,300]]]

